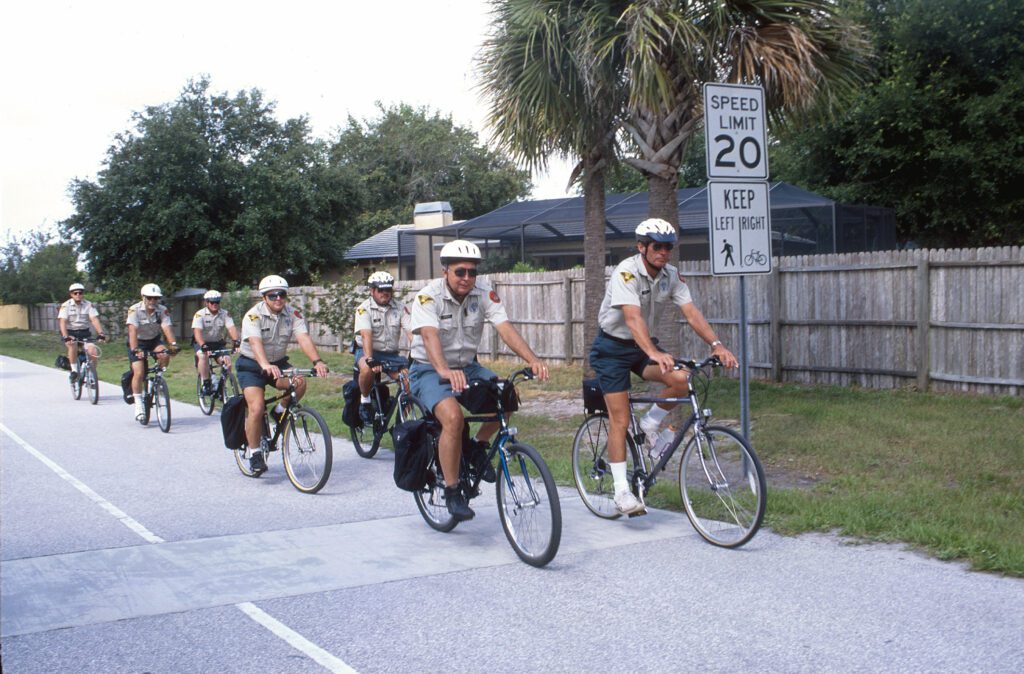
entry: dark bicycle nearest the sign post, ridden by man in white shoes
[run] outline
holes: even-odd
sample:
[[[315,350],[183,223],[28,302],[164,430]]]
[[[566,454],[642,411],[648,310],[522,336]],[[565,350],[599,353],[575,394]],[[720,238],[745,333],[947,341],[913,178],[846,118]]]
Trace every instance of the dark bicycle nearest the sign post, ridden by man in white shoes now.
[[[686,516],[697,534],[713,545],[737,548],[750,541],[764,519],[767,485],[761,461],[751,445],[736,431],[711,425],[711,410],[701,409],[711,377],[708,366],[720,367],[718,356],[701,363],[676,360],[677,370],[690,372],[686,397],[630,395],[630,427],[626,433],[627,472],[633,494],[643,502],[679,446],[686,443],[679,465],[679,491]],[[703,384],[697,393],[694,381]],[[637,403],[690,404],[689,419],[676,431],[653,466],[642,448],[647,439],[640,429],[633,406]],[[608,415],[606,410],[588,411],[572,440],[572,477],[584,504],[598,517],[615,519],[621,513],[613,501],[614,487],[606,458]]]

